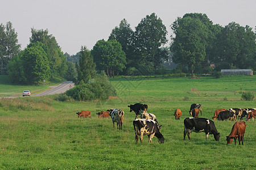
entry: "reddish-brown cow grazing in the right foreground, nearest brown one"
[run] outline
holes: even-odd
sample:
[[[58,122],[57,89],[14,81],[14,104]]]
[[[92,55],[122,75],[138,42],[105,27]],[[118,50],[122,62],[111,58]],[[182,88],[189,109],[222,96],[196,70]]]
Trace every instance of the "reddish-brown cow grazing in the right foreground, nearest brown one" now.
[[[243,145],[243,135],[245,135],[245,128],[246,128],[246,123],[244,121],[236,122],[233,125],[231,133],[228,136],[226,136],[226,145],[232,143],[233,138],[235,139],[235,145],[236,145],[237,137],[238,137],[239,145],[241,145],[240,141],[242,141],[242,145]]]

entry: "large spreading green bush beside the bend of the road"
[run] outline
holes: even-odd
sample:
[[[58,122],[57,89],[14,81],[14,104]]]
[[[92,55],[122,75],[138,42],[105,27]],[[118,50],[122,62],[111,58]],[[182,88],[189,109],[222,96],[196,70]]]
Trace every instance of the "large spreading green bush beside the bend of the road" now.
[[[90,79],[87,83],[83,80],[73,87],[71,90],[65,92],[67,96],[75,100],[105,100],[109,96],[116,96],[117,92],[112,84],[109,82],[108,76],[104,72],[97,74],[95,78]]]

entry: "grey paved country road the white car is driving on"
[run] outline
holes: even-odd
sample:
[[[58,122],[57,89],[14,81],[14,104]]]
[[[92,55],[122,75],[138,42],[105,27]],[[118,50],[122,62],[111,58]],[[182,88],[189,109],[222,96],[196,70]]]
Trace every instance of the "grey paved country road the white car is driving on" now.
[[[40,94],[31,95],[31,96],[46,96],[46,95],[61,94],[74,86],[75,86],[75,83],[73,83],[72,81],[63,82],[63,83],[59,84],[58,86],[54,86],[51,90],[44,91]],[[22,92],[20,92],[20,93],[22,93]],[[22,96],[7,96],[7,97],[0,97],[0,98],[15,98],[15,97],[22,97]]]

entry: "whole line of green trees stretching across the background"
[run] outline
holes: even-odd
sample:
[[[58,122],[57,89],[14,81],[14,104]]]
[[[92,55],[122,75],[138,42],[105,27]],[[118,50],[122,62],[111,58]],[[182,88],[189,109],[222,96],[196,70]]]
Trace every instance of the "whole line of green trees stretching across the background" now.
[[[98,40],[92,50],[81,47],[70,56],[63,53],[48,30],[31,28],[30,44],[20,50],[17,33],[8,22],[0,25],[0,73],[17,83],[35,83],[54,76],[88,81],[97,71],[115,75],[151,75],[176,63],[172,73],[213,73],[220,69],[256,69],[253,28],[229,23],[213,24],[206,14],[189,13],[167,29],[155,14],[146,15],[135,30],[126,19],[112,29],[108,40]],[[214,69],[210,67],[214,65]]]

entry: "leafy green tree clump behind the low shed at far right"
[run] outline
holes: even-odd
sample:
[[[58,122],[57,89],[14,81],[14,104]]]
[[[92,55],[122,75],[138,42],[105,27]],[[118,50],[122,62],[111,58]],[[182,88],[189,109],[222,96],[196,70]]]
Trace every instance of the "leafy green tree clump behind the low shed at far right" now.
[[[256,36],[248,25],[240,26],[237,23],[229,23],[218,35],[217,55],[213,61],[217,65],[229,64],[229,67],[238,69],[256,69]],[[225,68],[219,68],[225,69]]]

